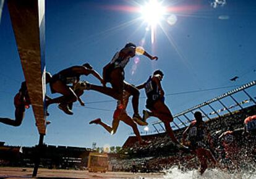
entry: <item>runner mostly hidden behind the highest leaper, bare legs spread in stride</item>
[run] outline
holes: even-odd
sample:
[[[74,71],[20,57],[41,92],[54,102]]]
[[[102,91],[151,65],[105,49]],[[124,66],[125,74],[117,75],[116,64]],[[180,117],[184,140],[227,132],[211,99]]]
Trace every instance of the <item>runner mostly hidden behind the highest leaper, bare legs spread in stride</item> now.
[[[114,133],[116,133],[119,122],[122,121],[122,122],[126,123],[127,125],[129,125],[130,127],[132,127],[132,130],[134,130],[134,133],[137,136],[139,143],[144,144],[145,141],[142,140],[142,137],[140,136],[140,133],[139,133],[136,123],[134,123],[134,121],[130,118],[130,116],[126,112],[126,107],[129,102],[129,97],[130,97],[130,94],[127,93],[126,91],[124,91],[124,94],[123,94],[124,106],[122,106],[123,108],[120,108],[120,101],[117,101],[116,110],[114,111],[114,114],[113,114],[112,127],[110,127],[106,123],[102,122],[100,118],[92,120],[90,122],[90,124],[95,123],[95,124],[101,125],[109,133],[111,133],[111,135],[113,135]]]

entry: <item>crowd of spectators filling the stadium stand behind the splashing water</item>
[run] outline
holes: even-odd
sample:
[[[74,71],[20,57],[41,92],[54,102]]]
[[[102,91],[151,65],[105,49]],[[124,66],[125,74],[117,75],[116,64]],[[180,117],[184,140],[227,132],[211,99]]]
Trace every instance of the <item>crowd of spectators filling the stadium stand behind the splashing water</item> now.
[[[244,119],[255,114],[256,106],[251,106],[207,121],[215,147],[212,152],[221,169],[233,172],[255,169],[256,137],[244,133]],[[177,138],[181,139],[183,131],[175,131]],[[222,136],[226,131],[232,131],[233,141],[225,146]],[[132,171],[132,163],[136,164],[137,172],[160,172],[171,167],[181,170],[198,168],[197,157],[190,152],[179,151],[165,133],[143,136],[143,139],[150,141],[150,144],[126,143],[122,149],[126,157],[110,160],[114,171]]]

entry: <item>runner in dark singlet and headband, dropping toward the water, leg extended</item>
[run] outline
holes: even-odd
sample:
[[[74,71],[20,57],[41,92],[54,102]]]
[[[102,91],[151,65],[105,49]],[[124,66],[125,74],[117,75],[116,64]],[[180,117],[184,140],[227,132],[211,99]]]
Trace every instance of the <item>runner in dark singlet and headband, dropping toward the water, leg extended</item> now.
[[[177,141],[170,125],[170,123],[173,122],[173,116],[169,108],[164,104],[164,91],[161,86],[163,76],[164,74],[161,70],[155,70],[153,75],[150,76],[145,83],[136,86],[139,90],[145,89],[147,95],[146,107],[150,111],[143,110],[143,120],[147,120],[150,116],[157,117],[164,123],[166,132],[171,137],[172,141],[176,143],[179,148],[186,148]]]

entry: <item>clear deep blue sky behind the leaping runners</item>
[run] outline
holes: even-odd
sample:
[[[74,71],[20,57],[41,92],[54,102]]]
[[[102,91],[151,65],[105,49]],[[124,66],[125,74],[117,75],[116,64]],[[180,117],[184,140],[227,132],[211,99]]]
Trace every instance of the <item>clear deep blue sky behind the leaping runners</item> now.
[[[141,18],[140,6],[146,2],[46,0],[46,69],[54,74],[71,65],[89,62],[101,74],[114,53],[127,42],[133,42],[159,57],[156,62],[144,56],[130,60],[125,70],[126,80],[134,85],[146,81],[155,69],[164,72],[165,94],[255,80],[256,2],[161,1],[166,12],[152,28]],[[0,17],[0,115],[13,118],[13,98],[24,78],[6,4]],[[229,81],[234,76],[239,79]],[[82,77],[82,80],[100,85],[93,77]],[[177,114],[233,88],[168,95],[166,104]],[[59,96],[50,94],[49,89],[48,94]],[[145,96],[144,91],[140,96]],[[64,114],[56,105],[49,107],[48,120],[52,123],[45,143],[88,148],[93,142],[96,146],[122,146],[132,132],[124,123],[120,123],[113,136],[98,125],[88,124],[98,117],[110,124],[116,102],[95,91],[86,91],[82,99],[88,108],[80,107],[77,102],[72,116]],[[140,111],[144,106],[145,98],[140,98]],[[128,112],[132,115],[131,105]],[[151,125],[148,128],[153,130]],[[0,123],[0,131],[0,141],[9,145],[38,143],[31,108],[20,127]]]

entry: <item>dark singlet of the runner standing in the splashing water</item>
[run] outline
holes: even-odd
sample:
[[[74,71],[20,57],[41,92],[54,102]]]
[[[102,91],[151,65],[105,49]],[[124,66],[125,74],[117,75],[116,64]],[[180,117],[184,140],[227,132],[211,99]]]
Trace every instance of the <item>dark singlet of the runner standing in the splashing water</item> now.
[[[194,120],[191,122],[191,127],[189,129],[189,141],[192,144],[204,143],[207,140],[207,126],[205,122],[202,122],[199,126],[197,121]]]

